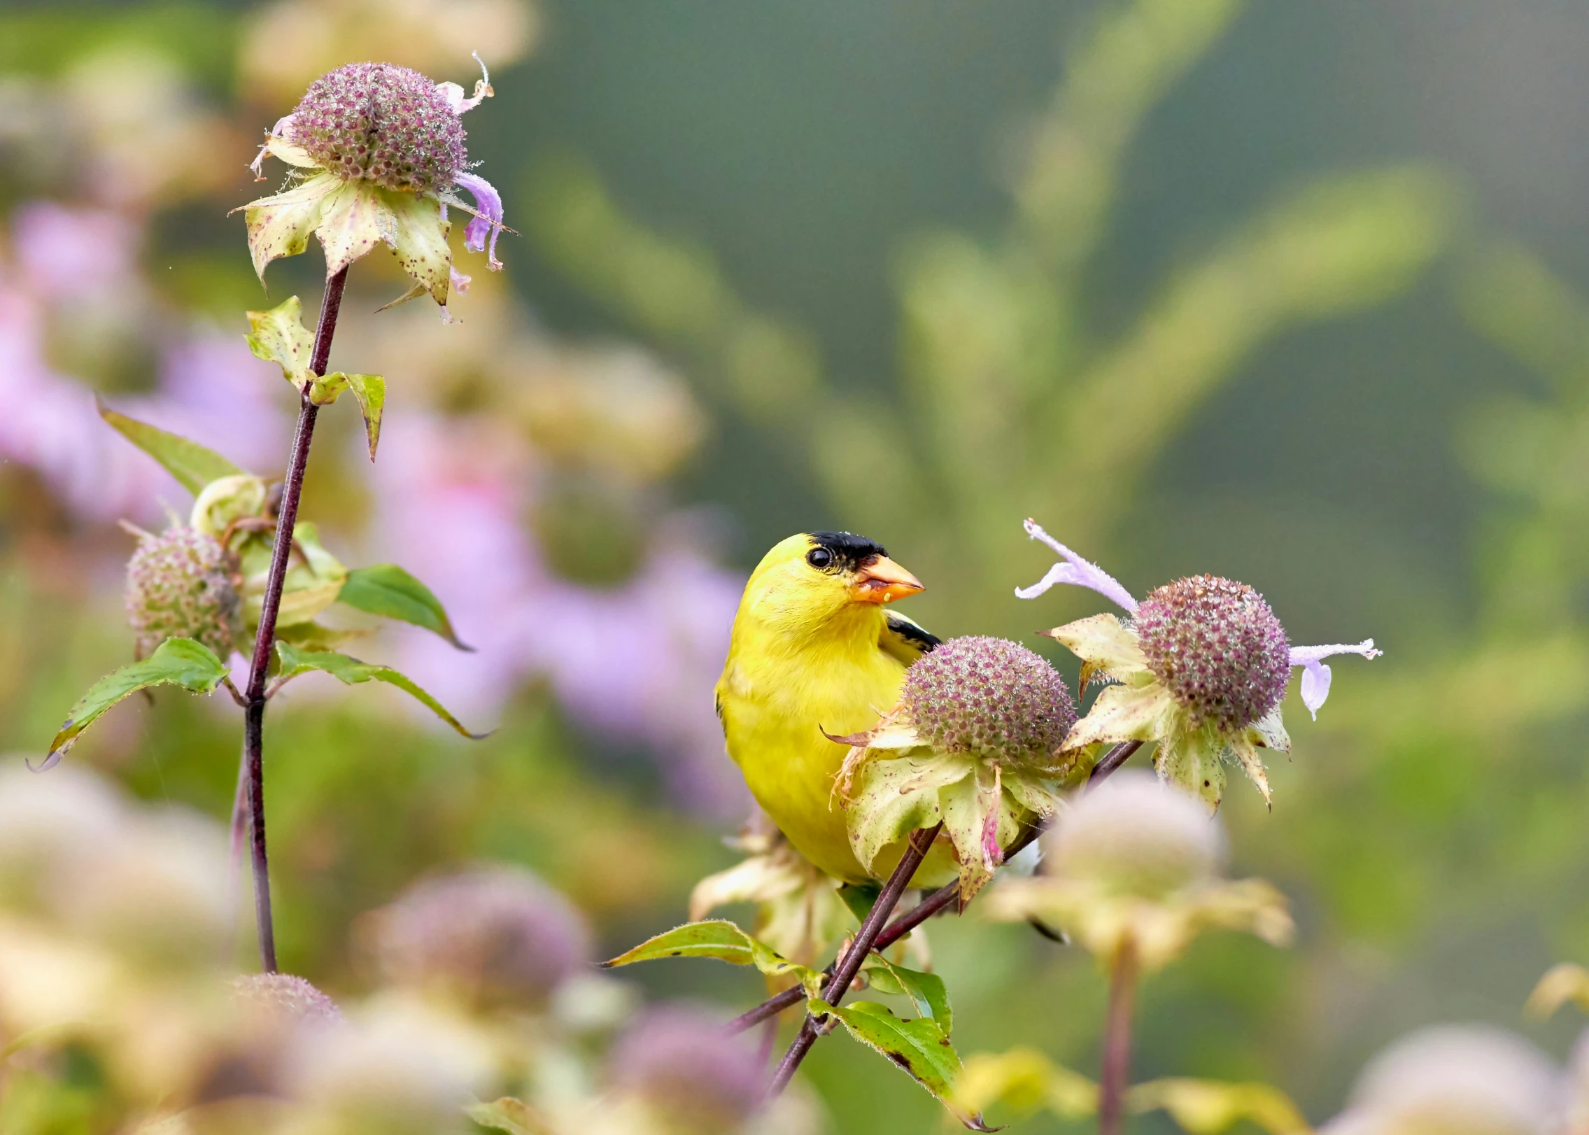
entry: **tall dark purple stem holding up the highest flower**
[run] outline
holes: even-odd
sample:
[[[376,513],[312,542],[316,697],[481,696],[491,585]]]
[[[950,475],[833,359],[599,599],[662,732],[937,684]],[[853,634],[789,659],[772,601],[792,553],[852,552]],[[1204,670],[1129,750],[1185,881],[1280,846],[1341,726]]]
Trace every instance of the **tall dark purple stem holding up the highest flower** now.
[[[326,364],[331,361],[331,337],[337,334],[337,313],[342,310],[342,289],[346,283],[346,269],[326,281],[315,350],[308,364],[316,375],[326,374]],[[254,865],[254,922],[259,928],[259,963],[265,973],[276,971],[276,936],[270,914],[270,857],[265,854],[265,676],[270,669],[270,650],[276,641],[276,615],[281,614],[281,591],[286,587],[288,561],[292,558],[292,529],[297,525],[303,471],[308,467],[308,447],[315,439],[319,407],[308,401],[307,393],[302,394],[297,429],[292,434],[292,455],[281,490],[281,509],[276,513],[276,540],[270,550],[270,572],[265,575],[259,633],[254,636],[254,658],[248,671],[248,706],[243,714],[243,761],[248,768],[248,814],[253,831],[249,849]]]

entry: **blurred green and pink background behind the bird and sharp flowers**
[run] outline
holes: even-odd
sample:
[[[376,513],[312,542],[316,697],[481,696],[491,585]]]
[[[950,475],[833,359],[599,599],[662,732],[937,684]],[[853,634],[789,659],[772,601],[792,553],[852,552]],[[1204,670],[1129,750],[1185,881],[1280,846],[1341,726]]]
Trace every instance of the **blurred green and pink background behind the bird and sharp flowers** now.
[[[350,927],[416,877],[521,863],[612,955],[683,920],[747,796],[710,685],[748,569],[849,528],[941,636],[1034,637],[1050,533],[1142,591],[1208,571],[1340,660],[1274,809],[1233,784],[1238,874],[1290,951],[1200,941],[1147,982],[1138,1076],[1266,1079],[1314,1121],[1432,1021],[1560,1057],[1522,1001],[1589,960],[1589,10],[1565,0],[273,0],[0,3],[0,752],[130,658],[127,518],[188,496],[94,394],[265,475],[294,394],[245,308],[248,161],[303,87],[385,59],[496,97],[466,119],[507,267],[459,251],[458,324],[361,261],[332,366],[385,374],[380,463],[323,421],[305,517],[447,604],[302,679],[267,725],[283,968],[370,982]],[[281,169],[267,165],[278,181]],[[454,248],[461,238],[454,235]],[[327,688],[331,687],[331,688]],[[386,695],[392,693],[391,698]],[[68,761],[222,820],[229,699],[130,699]],[[238,965],[251,952],[238,946]],[[961,1052],[1096,1070],[1104,981],[969,912],[931,927]],[[626,971],[739,1011],[755,974]],[[834,1038],[834,1132],[936,1105]],[[1026,1130],[1061,1130],[1033,1119]],[[1146,1124],[1144,1124],[1146,1129]]]

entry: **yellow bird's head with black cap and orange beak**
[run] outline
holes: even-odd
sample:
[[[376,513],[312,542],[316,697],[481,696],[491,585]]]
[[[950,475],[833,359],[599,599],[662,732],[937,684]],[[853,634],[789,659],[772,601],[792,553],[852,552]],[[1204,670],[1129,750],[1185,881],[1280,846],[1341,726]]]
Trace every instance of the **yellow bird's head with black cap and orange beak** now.
[[[801,533],[761,558],[740,609],[790,633],[815,633],[847,612],[876,614],[920,590],[915,575],[864,536]]]

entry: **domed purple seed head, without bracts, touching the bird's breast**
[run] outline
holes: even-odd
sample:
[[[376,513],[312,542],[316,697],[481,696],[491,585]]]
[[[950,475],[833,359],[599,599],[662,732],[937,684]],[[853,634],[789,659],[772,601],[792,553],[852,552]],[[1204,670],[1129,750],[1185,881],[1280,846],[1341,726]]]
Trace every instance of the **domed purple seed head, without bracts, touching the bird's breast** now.
[[[950,639],[904,676],[899,707],[934,749],[1049,763],[1076,725],[1065,679],[1019,642]]]

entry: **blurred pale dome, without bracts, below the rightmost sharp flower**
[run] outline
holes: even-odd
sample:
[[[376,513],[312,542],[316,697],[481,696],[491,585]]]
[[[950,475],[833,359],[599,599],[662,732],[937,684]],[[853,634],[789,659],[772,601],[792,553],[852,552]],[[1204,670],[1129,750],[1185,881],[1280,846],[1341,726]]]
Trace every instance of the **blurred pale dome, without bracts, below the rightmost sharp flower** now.
[[[1225,857],[1224,835],[1197,800],[1136,769],[1082,793],[1044,846],[1060,877],[1155,900],[1212,877]]]

